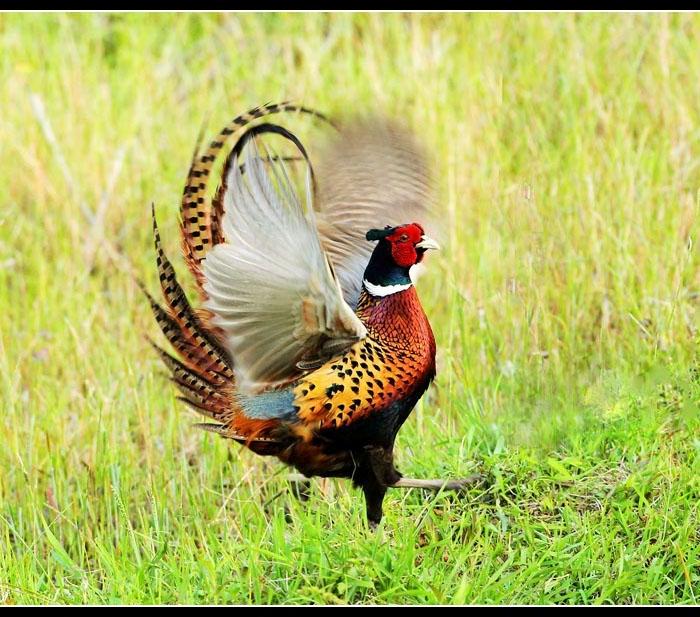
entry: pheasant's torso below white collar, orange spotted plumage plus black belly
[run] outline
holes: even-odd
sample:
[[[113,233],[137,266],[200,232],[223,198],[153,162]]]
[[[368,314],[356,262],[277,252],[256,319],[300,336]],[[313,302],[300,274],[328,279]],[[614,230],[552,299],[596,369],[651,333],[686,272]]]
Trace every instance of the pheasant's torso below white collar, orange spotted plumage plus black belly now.
[[[352,477],[353,450],[391,448],[435,376],[435,340],[414,288],[387,298],[364,292],[358,315],[367,337],[293,388],[301,443],[286,457],[307,475]]]

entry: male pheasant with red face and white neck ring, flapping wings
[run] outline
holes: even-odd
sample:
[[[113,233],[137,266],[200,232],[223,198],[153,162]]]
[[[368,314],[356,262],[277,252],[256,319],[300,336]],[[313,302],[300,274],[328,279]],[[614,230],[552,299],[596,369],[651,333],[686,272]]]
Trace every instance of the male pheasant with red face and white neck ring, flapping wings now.
[[[334,127],[318,173],[301,141],[269,121],[281,112]],[[298,155],[271,154],[264,134]],[[303,190],[290,161],[305,163]],[[405,130],[384,120],[338,127],[282,103],[236,117],[195,150],[181,236],[202,308],[178,283],[152,215],[164,306],[144,292],[178,357],[154,347],[178,398],[210,420],[197,426],[307,478],[352,479],[372,527],[390,487],[464,486],[404,478],[393,463],[397,432],[435,377],[435,339],[412,280],[438,248],[422,226],[430,179]]]

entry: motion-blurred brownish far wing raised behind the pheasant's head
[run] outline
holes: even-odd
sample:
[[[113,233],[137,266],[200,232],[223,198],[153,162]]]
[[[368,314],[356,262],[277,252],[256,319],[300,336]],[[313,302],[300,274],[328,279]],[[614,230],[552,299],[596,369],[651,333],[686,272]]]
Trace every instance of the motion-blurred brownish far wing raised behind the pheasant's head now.
[[[417,222],[430,231],[428,165],[405,129],[379,119],[341,127],[318,163],[321,241],[355,307],[374,248],[367,230]]]

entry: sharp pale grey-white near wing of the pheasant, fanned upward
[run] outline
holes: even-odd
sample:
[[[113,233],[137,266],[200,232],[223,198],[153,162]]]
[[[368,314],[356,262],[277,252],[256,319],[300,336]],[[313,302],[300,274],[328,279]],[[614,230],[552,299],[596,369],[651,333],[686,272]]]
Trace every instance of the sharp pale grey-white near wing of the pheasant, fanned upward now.
[[[244,170],[234,159],[223,197],[226,242],[204,260],[204,289],[239,387],[256,392],[293,380],[306,359],[338,353],[366,329],[321,246],[310,177],[302,207],[284,163],[261,157],[254,140]]]

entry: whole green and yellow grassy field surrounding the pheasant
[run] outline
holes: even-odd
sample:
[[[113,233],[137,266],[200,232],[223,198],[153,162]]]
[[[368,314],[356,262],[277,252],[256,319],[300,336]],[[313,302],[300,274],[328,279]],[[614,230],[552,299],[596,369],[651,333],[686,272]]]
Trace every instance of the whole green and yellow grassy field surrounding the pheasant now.
[[[698,602],[698,74],[695,15],[0,15],[0,604]],[[287,98],[439,180],[398,463],[486,482],[377,533],[192,429],[144,336],[151,202],[175,257],[202,123]]]

